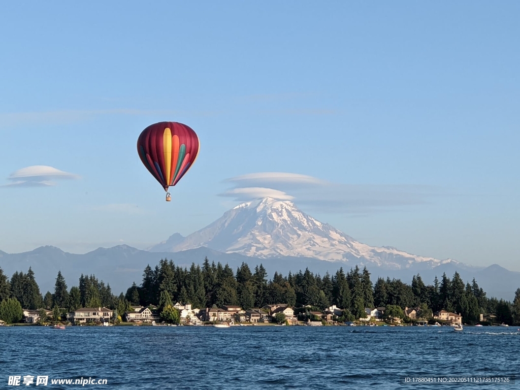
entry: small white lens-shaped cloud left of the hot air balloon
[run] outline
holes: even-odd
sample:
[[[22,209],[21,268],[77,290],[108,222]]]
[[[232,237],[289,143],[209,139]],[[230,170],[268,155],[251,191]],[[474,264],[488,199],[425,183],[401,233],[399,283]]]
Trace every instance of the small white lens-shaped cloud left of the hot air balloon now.
[[[32,165],[21,168],[9,175],[11,183],[3,187],[48,187],[55,186],[53,180],[78,179],[79,175],[60,171],[48,165]]]

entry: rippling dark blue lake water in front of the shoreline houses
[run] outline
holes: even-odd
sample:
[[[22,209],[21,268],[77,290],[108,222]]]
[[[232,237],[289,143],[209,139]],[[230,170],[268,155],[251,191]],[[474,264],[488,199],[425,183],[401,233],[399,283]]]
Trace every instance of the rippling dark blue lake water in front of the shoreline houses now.
[[[84,388],[111,389],[513,389],[520,378],[424,386],[404,377],[519,372],[516,327],[0,327],[2,389],[15,388],[9,375],[48,375],[53,389],[78,385],[51,379],[81,377],[107,379]]]

